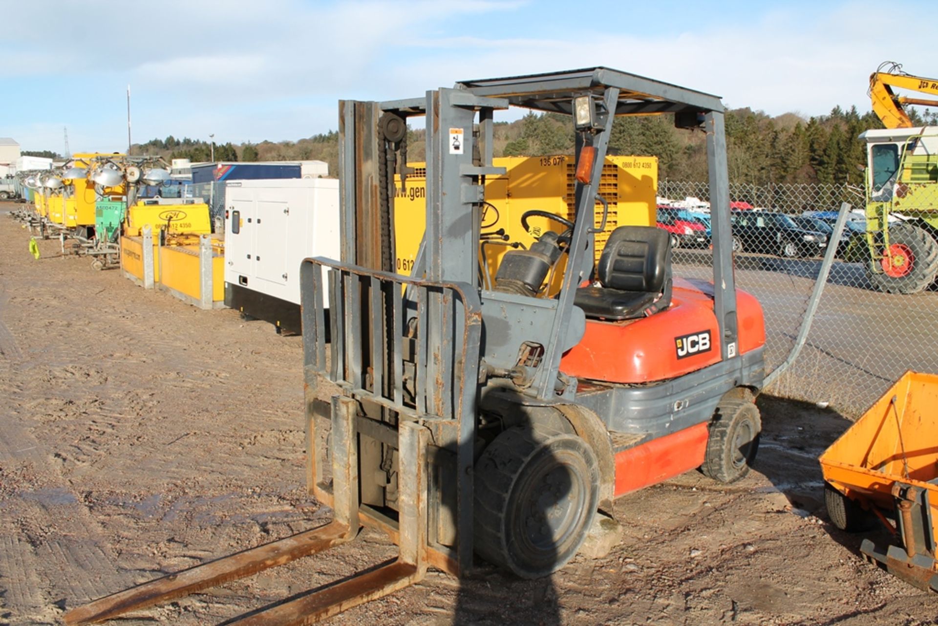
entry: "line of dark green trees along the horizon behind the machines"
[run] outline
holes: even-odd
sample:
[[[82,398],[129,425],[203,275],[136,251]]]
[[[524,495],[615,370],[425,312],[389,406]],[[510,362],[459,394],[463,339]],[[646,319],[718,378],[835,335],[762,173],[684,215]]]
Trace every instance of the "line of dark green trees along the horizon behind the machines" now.
[[[909,111],[916,126],[938,125],[938,114]],[[834,107],[828,115],[805,119],[795,114],[766,115],[749,108],[726,112],[727,160],[734,183],[863,183],[866,149],[861,132],[883,128],[876,115],[856,107]],[[565,115],[531,113],[495,125],[495,156],[572,154],[574,133]],[[703,130],[676,129],[673,115],[616,118],[609,142],[611,154],[658,157],[662,179],[705,181],[706,141]],[[211,145],[202,140],[153,139],[134,145],[134,154],[167,159],[210,160]],[[408,133],[408,160],[425,159],[424,130]],[[338,173],[339,133],[330,130],[298,141],[215,145],[215,160],[325,160]]]

